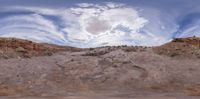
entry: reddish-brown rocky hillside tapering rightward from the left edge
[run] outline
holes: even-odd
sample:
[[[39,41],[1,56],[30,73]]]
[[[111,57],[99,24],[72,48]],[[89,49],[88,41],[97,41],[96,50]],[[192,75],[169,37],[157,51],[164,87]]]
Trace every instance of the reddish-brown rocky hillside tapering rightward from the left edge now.
[[[56,52],[78,50],[80,49],[51,44],[39,44],[16,38],[0,38],[0,59],[51,56]]]

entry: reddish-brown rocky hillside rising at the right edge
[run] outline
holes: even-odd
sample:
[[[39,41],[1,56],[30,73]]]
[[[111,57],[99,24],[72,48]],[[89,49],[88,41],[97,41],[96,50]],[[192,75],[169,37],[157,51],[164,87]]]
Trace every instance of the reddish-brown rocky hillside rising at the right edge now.
[[[176,38],[170,43],[155,47],[154,52],[170,57],[200,58],[200,38]]]

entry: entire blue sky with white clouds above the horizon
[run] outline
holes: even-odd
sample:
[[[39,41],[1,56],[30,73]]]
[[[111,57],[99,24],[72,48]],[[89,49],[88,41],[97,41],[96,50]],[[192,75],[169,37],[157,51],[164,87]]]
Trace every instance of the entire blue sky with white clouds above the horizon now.
[[[0,37],[80,48],[200,36],[200,0],[0,0]]]

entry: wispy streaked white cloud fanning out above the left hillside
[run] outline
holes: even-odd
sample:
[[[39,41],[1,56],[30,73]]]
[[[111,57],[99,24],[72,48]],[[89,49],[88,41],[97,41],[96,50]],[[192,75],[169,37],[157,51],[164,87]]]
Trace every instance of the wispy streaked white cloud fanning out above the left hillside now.
[[[47,40],[64,40],[62,33],[57,31],[53,22],[38,14],[10,16],[0,20],[0,31],[3,37],[18,37],[41,42]]]

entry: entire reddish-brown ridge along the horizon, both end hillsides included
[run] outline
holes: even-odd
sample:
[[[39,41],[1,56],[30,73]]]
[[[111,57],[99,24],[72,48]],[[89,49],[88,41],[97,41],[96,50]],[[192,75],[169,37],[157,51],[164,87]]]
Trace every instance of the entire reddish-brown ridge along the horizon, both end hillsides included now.
[[[69,46],[58,46],[47,43],[35,43],[29,40],[17,39],[17,38],[0,38],[0,58],[16,58],[33,56],[46,56],[60,51],[81,51],[91,49],[107,48],[106,52],[114,49],[123,49],[126,51],[145,50],[151,47],[145,46],[107,46],[90,49],[80,49]],[[200,37],[189,38],[175,38],[171,42],[152,47],[153,51],[159,55],[167,55],[170,57],[200,57]],[[98,51],[97,51],[98,53]],[[101,52],[100,52],[101,53]]]

